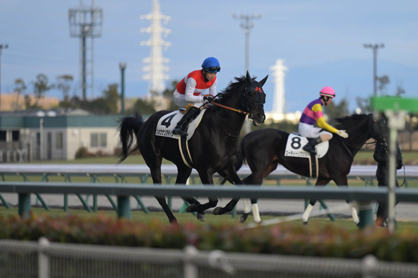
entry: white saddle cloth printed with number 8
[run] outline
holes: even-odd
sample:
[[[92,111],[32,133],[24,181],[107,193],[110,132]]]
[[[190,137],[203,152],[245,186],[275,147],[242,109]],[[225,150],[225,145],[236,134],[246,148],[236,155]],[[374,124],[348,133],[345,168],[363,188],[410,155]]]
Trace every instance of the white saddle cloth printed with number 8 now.
[[[311,138],[303,137],[299,134],[289,134],[288,141],[286,143],[285,157],[310,157],[310,154],[303,150],[303,146],[308,144],[308,140]],[[328,151],[329,141],[321,142],[316,147],[316,157],[324,157]]]

